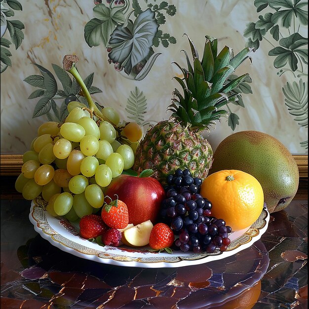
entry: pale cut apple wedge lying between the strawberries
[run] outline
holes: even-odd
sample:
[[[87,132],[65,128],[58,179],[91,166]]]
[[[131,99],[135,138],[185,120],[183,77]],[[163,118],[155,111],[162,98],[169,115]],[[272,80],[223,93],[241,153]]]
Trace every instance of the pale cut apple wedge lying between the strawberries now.
[[[144,221],[122,232],[121,241],[130,247],[143,247],[148,245],[150,232],[154,225],[150,220]]]

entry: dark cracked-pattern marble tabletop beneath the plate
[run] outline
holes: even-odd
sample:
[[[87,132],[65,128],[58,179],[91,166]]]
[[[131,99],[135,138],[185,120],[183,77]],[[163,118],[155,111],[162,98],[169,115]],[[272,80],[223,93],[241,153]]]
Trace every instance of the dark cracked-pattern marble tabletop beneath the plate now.
[[[308,308],[308,202],[271,214],[248,249],[181,268],[81,259],[34,231],[30,203],[1,200],[1,308]],[[49,306],[49,307],[48,307]]]

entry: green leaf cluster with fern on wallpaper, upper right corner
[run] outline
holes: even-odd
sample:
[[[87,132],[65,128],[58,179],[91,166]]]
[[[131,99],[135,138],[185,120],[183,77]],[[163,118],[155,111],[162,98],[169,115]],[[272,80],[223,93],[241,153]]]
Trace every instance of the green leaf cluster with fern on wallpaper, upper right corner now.
[[[308,1],[255,0],[254,5],[267,12],[247,25],[247,46],[258,49],[265,40],[272,47],[268,55],[275,57],[277,75],[288,79],[282,87],[285,105],[297,124],[308,128],[308,37],[299,33],[301,25],[308,26]],[[308,149],[308,140],[300,145]]]

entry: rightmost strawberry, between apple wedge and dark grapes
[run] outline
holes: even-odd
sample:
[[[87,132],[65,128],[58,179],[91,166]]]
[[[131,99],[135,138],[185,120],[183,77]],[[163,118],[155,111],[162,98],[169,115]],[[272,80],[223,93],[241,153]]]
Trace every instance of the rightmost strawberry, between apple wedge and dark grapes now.
[[[169,249],[169,247],[173,244],[174,238],[174,232],[167,224],[157,223],[154,225],[150,233],[149,245],[154,250],[161,251],[164,249],[167,252],[171,252],[171,249]]]

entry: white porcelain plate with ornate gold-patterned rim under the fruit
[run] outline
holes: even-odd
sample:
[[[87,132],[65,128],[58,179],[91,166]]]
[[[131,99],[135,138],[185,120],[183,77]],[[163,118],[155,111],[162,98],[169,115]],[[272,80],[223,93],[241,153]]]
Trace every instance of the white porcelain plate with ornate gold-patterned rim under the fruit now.
[[[78,235],[78,223],[70,222],[62,217],[53,217],[46,210],[46,202],[38,197],[31,203],[29,219],[35,230],[52,245],[76,255],[80,258],[99,263],[127,267],[172,268],[208,263],[249,248],[266,232],[270,214],[264,207],[260,217],[249,228],[232,232],[231,243],[224,252],[193,253],[174,250],[172,254],[150,252],[150,247],[131,248],[127,246],[100,246]]]

